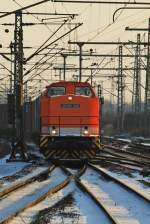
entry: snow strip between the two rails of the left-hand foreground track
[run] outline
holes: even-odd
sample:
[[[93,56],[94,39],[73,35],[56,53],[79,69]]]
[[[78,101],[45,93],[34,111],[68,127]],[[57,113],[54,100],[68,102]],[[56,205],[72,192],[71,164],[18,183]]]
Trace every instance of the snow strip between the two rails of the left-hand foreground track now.
[[[50,189],[56,187],[62,181],[66,179],[63,172],[56,168],[49,178],[44,181],[35,181],[28,184],[24,188],[20,188],[1,200],[0,205],[0,222],[5,217],[11,216],[19,210],[22,210],[29,203],[33,203],[36,199],[39,199],[43,195],[47,194]]]

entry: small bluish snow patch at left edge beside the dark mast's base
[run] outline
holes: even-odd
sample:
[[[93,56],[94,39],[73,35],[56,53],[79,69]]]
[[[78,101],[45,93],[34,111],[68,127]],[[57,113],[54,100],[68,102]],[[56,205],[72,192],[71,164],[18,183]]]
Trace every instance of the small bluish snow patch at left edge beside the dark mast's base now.
[[[29,165],[29,163],[26,162],[7,162],[6,160],[8,158],[9,155],[0,159],[0,178],[11,176]]]

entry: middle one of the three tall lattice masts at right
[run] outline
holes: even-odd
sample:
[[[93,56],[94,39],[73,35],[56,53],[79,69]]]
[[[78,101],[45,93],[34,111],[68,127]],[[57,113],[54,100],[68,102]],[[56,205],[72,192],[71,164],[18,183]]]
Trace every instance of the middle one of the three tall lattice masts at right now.
[[[137,46],[135,52],[135,70],[133,78],[132,111],[141,112],[141,62],[140,62],[140,34],[137,34]]]

